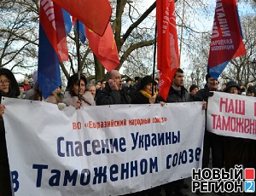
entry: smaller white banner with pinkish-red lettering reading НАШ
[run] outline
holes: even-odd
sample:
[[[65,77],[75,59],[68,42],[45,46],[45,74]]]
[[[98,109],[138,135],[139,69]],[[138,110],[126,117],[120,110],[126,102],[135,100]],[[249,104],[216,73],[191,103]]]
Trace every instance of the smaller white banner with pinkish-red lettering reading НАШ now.
[[[256,98],[214,92],[208,100],[207,130],[256,140]]]

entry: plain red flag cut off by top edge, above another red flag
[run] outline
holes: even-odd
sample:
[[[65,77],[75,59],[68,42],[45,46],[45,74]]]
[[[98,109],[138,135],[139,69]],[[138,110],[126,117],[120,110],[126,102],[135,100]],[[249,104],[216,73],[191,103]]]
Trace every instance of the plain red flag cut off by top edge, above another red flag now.
[[[108,0],[53,0],[61,8],[88,26],[93,32],[103,35],[111,17]]]

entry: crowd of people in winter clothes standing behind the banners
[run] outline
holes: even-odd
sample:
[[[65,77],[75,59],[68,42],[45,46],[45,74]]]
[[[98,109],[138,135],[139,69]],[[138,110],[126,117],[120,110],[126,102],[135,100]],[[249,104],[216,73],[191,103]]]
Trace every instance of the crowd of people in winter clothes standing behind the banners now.
[[[208,97],[212,91],[223,91],[230,94],[241,94],[248,96],[256,95],[256,88],[253,84],[248,84],[247,88],[230,81],[223,84],[221,89],[218,86],[218,80],[212,78],[209,74],[206,76],[207,84],[203,89],[192,84],[189,90],[184,88],[183,70],[178,68],[172,79],[172,85],[168,96],[165,99],[158,95],[159,80],[149,75],[143,78],[136,77],[134,84],[132,79],[127,78],[123,83],[121,74],[117,70],[107,73],[107,78],[97,81],[96,84],[90,83],[84,75],[73,74],[67,82],[65,92],[61,92],[61,86],[55,89],[49,97],[44,99],[40,86],[38,85],[38,72],[34,72],[32,86],[28,84],[25,78],[22,85],[18,84],[14,74],[5,68],[0,68],[0,92],[1,96],[12,98],[21,98],[34,101],[47,101],[56,104],[60,110],[65,107],[102,106],[113,104],[154,104],[160,103],[164,107],[166,102],[187,102],[202,101],[202,109],[207,111]],[[80,85],[80,86],[79,86]],[[0,97],[1,98],[1,97]],[[0,99],[1,100],[1,99]],[[3,124],[4,106],[0,104],[0,195],[11,194],[11,180],[9,174],[9,161],[6,149],[5,130]],[[205,130],[203,143],[202,168],[208,168],[210,157],[212,156],[212,167],[225,168],[229,170],[235,167],[235,164],[244,162],[255,168],[256,156],[246,153],[247,150],[255,149],[256,142],[249,139],[226,137],[215,135]],[[211,152],[211,154],[210,154]],[[253,151],[254,153],[254,151]],[[253,159],[252,159],[253,157]],[[187,187],[183,180],[170,182],[161,187],[154,187],[142,192],[131,193],[131,195],[160,195],[160,189],[163,188],[168,196],[183,195],[182,187]],[[200,193],[198,193],[200,194]],[[220,193],[221,194],[221,193]]]

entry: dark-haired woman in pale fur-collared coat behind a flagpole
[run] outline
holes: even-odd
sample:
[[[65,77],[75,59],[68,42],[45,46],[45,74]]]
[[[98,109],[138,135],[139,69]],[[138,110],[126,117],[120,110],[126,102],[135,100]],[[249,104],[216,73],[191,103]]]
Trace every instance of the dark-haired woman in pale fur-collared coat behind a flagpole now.
[[[79,101],[79,76],[73,74],[67,82],[67,92],[64,95],[63,103],[79,109],[80,107],[96,106],[93,96],[89,91],[85,91],[87,80],[84,75],[80,76],[80,101]],[[59,107],[60,108],[60,107]]]

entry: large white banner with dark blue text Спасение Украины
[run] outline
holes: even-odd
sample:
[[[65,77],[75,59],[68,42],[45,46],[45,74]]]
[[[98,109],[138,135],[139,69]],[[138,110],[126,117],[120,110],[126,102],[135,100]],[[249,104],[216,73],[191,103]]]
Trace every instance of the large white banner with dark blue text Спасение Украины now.
[[[133,193],[201,167],[202,102],[76,110],[3,98],[15,196]]]

